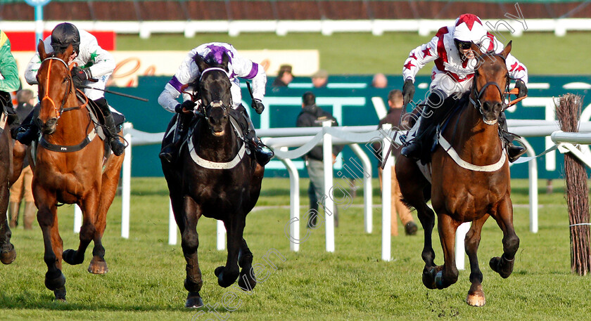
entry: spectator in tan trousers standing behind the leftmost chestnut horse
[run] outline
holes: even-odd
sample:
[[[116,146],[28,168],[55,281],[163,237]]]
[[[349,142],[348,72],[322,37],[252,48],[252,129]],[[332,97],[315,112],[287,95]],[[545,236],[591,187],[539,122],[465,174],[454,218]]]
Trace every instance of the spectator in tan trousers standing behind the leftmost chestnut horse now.
[[[18,114],[19,119],[25,119],[27,114],[29,114],[33,110],[34,105],[34,93],[30,89],[23,89],[18,91],[16,94],[16,99],[18,100],[18,105],[16,107],[16,113]],[[18,148],[26,148],[25,145],[20,143],[15,143],[14,149],[15,152]],[[31,166],[29,166],[29,160],[25,157],[23,161],[23,171],[20,173],[18,180],[12,185],[11,187],[11,197],[10,197],[10,205],[8,207],[8,216],[10,216],[10,226],[11,228],[15,228],[18,225],[18,212],[20,211],[20,203],[25,199],[25,209],[23,210],[23,221],[25,225],[25,230],[32,230],[32,224],[35,218],[35,212],[37,211],[37,207],[35,207],[34,200],[33,200],[33,193],[31,190],[31,183],[33,179],[33,173],[31,171]]]

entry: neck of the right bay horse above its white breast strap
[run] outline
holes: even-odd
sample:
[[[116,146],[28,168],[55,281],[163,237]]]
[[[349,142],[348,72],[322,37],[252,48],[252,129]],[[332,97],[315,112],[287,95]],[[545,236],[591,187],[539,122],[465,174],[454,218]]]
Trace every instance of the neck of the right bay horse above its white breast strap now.
[[[457,126],[448,126],[445,137],[452,138],[451,145],[462,159],[496,162],[502,152],[499,124],[487,125],[478,110],[469,104],[452,119]]]

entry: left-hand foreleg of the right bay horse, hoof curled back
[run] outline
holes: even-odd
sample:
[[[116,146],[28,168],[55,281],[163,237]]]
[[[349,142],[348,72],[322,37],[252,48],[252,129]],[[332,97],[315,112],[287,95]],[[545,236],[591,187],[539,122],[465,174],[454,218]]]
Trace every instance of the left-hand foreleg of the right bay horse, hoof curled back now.
[[[424,271],[423,283],[430,289],[445,289],[457,282],[458,271],[455,266],[455,232],[459,222],[447,214],[437,214],[437,228],[443,248],[443,266]],[[428,272],[427,274],[425,272]]]

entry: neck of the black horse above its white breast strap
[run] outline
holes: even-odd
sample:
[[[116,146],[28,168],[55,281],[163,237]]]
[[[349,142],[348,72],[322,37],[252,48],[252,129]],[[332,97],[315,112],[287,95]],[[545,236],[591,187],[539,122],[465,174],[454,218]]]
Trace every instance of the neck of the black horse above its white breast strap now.
[[[194,145],[199,155],[212,162],[228,162],[233,159],[238,152],[238,142],[236,133],[230,122],[224,129],[223,136],[215,136],[210,130],[207,121],[201,119],[198,126],[198,135],[193,135]]]

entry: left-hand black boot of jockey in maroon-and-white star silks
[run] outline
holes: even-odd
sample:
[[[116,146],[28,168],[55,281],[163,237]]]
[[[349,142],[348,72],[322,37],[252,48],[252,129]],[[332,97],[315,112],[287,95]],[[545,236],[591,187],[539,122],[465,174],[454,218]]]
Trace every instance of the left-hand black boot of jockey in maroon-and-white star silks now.
[[[435,126],[440,119],[440,115],[443,114],[440,108],[443,105],[443,93],[436,91],[431,93],[426,103],[423,105],[423,111],[421,112],[421,123],[417,129],[417,133],[414,134],[414,138],[409,141],[408,145],[402,148],[400,153],[406,157],[414,160],[421,158],[421,151],[423,149],[423,142],[425,132],[431,126]]]

